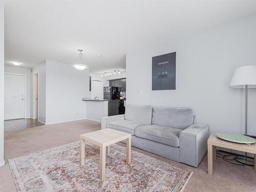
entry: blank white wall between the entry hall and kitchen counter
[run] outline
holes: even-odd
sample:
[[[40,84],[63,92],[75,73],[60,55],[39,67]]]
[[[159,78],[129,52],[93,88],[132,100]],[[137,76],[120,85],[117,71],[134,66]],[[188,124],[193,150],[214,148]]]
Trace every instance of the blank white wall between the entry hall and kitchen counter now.
[[[89,69],[46,60],[46,124],[86,119],[82,97],[89,97]]]

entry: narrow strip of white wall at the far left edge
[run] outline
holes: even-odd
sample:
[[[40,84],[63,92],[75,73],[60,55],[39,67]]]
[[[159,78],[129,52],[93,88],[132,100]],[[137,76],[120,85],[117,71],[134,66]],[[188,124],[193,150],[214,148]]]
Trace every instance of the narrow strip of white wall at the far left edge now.
[[[5,63],[5,39],[4,39],[5,10],[4,1],[0,1],[0,166],[4,161],[4,63]]]

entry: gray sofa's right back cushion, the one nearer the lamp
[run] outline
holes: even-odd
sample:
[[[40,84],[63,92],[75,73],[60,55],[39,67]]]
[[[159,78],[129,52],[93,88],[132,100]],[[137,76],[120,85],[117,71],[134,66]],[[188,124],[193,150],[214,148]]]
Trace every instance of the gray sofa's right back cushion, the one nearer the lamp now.
[[[193,124],[193,117],[193,110],[189,108],[157,106],[153,108],[152,124],[184,130]]]

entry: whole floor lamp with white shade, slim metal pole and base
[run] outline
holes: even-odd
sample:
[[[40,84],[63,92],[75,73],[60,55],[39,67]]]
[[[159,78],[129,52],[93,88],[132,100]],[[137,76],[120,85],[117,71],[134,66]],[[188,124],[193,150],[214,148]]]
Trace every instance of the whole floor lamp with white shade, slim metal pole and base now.
[[[229,87],[245,89],[245,135],[247,135],[248,89],[256,88],[256,66],[243,66],[237,68],[236,71],[234,71]],[[253,161],[247,159],[247,153],[245,153],[245,159],[238,158],[237,160],[247,165],[254,165]]]

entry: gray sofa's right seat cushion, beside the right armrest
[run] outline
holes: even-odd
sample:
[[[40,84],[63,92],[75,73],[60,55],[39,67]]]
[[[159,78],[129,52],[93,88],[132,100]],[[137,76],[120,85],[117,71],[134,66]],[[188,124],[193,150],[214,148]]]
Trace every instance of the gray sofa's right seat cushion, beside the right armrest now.
[[[144,125],[135,129],[135,136],[162,144],[179,147],[179,134],[182,130],[160,125]]]

